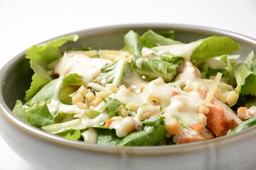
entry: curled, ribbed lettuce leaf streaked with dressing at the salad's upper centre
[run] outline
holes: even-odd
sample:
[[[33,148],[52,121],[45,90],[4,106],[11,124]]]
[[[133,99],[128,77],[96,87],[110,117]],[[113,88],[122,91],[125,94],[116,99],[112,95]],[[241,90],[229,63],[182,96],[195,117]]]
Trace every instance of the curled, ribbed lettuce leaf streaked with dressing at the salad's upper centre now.
[[[154,60],[138,56],[134,56],[131,62],[131,67],[135,69],[140,76],[144,76],[149,80],[162,77],[166,83],[171,82],[176,75],[177,66],[176,64],[171,64],[163,60]]]

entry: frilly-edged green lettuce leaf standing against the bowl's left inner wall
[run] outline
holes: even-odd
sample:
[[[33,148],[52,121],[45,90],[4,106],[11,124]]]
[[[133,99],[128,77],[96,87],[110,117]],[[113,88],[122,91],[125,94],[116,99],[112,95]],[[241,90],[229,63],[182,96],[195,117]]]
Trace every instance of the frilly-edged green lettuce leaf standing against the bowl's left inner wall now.
[[[35,73],[32,77],[31,87],[26,91],[25,101],[29,101],[44,85],[52,80],[48,74],[48,71],[52,69],[49,64],[61,57],[62,53],[59,47],[69,40],[78,40],[78,35],[57,38],[26,50],[26,58],[30,60],[31,68]]]

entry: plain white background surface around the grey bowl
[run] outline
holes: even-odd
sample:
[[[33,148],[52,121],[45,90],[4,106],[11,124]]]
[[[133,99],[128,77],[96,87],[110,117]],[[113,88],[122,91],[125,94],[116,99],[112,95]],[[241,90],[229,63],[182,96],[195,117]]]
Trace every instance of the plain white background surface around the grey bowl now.
[[[255,0],[0,0],[0,68],[43,40],[121,23],[186,23],[256,38],[255,9]],[[0,169],[34,168],[0,136]]]

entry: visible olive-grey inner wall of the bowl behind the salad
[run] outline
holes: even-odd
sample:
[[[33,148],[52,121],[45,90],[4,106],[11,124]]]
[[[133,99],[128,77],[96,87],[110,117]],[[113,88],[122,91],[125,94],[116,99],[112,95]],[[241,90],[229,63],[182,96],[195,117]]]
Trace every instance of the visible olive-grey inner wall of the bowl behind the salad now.
[[[154,31],[174,30],[176,40],[180,40],[181,42],[192,42],[212,35],[228,36],[241,45],[242,50],[236,53],[241,54],[243,57],[246,57],[250,51],[256,48],[256,40],[225,30],[177,24],[142,24],[109,26],[74,32],[80,35],[78,42],[68,42],[61,47],[61,50],[65,50],[68,47],[81,46],[90,46],[95,50],[120,50],[124,47],[124,35],[129,30],[134,30],[142,34],[149,29]],[[25,91],[29,88],[31,83],[33,70],[29,67],[29,61],[24,57],[25,53],[21,52],[1,70],[0,80],[3,84],[0,86],[0,93],[6,106],[9,108],[9,114],[12,114],[11,110],[14,108],[16,100],[22,100],[24,98]],[[240,60],[243,60],[243,58]]]

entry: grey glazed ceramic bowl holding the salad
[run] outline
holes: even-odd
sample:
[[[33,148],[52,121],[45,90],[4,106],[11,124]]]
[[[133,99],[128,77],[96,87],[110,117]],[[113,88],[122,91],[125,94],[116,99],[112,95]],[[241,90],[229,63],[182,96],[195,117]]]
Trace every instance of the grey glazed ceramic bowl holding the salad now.
[[[256,49],[256,40],[225,30],[181,24],[129,24],[81,30],[78,42],[62,49],[87,45],[92,49],[119,50],[128,30],[174,30],[176,39],[191,42],[211,35],[239,42],[242,56]],[[73,34],[73,33],[70,33]],[[66,140],[24,123],[11,112],[24,97],[33,72],[24,52],[0,73],[0,132],[11,149],[36,169],[256,169],[256,127],[214,140],[159,147],[108,147]]]

